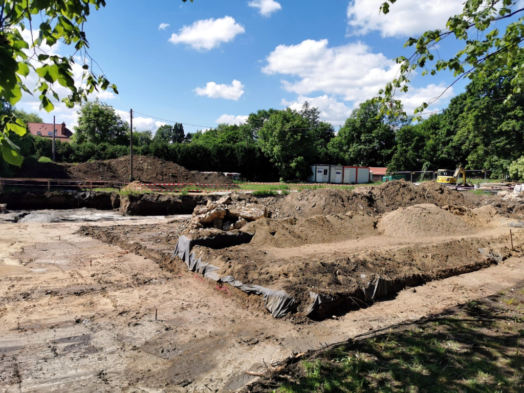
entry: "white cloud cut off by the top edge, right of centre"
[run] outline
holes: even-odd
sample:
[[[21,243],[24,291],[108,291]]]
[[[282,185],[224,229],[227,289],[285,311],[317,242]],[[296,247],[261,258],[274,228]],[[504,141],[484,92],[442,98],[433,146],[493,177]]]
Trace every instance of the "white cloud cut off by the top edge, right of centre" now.
[[[451,15],[462,11],[457,0],[402,0],[391,4],[389,13],[379,13],[384,0],[353,0],[347,7],[348,34],[367,34],[378,30],[382,37],[420,35],[445,28]]]

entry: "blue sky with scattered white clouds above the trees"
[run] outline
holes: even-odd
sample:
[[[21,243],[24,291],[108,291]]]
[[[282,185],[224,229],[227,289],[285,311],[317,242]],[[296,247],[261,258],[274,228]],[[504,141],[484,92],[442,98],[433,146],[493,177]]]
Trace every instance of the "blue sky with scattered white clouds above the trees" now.
[[[384,0],[110,0],[93,10],[84,29],[95,69],[118,86],[103,92],[138,130],[182,123],[185,132],[239,124],[260,109],[318,107],[323,121],[343,125],[352,110],[394,78],[393,59],[409,56],[410,36],[445,26],[462,1],[402,0],[379,14]],[[450,57],[453,42],[438,48]],[[64,45],[47,49],[71,54]],[[80,65],[77,67],[80,70]],[[431,110],[446,107],[465,83],[450,73],[412,75],[400,97],[408,112],[443,93]],[[60,92],[60,89],[57,89]],[[94,100],[96,96],[92,96]],[[78,107],[51,113],[25,96],[17,105],[45,122],[76,123]]]

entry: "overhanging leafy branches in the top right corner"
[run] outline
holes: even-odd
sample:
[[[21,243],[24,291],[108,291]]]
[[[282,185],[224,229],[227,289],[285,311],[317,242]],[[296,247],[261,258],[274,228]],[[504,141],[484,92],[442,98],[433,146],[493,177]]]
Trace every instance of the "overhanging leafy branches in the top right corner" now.
[[[387,14],[395,2],[388,0],[380,6],[380,11]],[[419,68],[423,70],[422,75],[435,75],[443,70],[453,72],[456,79],[449,87],[461,78],[472,79],[474,72],[480,77],[496,72],[503,78],[514,71],[513,89],[507,100],[513,94],[520,94],[524,90],[524,67],[517,59],[524,53],[524,17],[515,17],[522,15],[524,8],[518,8],[519,5],[522,5],[519,0],[467,0],[462,13],[450,17],[444,29],[428,30],[418,38],[409,38],[404,46],[414,47],[414,53],[409,58],[395,59],[400,65],[396,78],[379,92],[384,110],[388,111],[389,103],[395,102],[397,90],[408,91],[410,73]],[[450,37],[464,41],[463,48],[451,59],[438,58],[436,46]],[[415,113],[422,112],[436,99],[438,97],[422,103]]]

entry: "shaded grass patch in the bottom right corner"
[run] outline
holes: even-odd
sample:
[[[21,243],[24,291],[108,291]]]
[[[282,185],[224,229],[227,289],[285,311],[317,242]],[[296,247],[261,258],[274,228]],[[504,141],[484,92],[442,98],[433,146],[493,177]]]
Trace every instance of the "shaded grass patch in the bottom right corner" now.
[[[521,282],[508,294],[309,352],[251,391],[522,392],[523,287]]]

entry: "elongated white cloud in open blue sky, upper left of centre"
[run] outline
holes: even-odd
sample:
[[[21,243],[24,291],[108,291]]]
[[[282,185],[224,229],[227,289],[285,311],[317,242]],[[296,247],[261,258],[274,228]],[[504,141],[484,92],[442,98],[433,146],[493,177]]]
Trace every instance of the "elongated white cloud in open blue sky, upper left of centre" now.
[[[191,26],[184,26],[179,34],[171,35],[169,42],[187,43],[198,50],[211,50],[222,42],[232,41],[243,32],[245,29],[242,25],[236,23],[231,16],[225,16],[221,19],[197,20]]]

